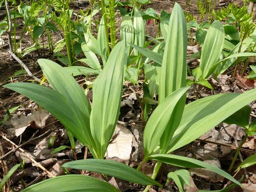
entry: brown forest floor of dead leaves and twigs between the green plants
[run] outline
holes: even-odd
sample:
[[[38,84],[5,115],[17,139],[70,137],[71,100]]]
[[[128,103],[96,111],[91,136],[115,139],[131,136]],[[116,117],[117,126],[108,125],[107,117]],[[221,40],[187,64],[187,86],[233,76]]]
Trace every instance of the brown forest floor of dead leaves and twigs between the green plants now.
[[[152,0],[152,3],[143,7],[147,9],[152,7],[156,12],[161,12],[165,9],[166,12],[171,12],[175,2],[179,2],[183,9],[190,12],[194,17],[199,18],[199,13],[196,6],[196,1],[192,0],[191,5],[187,5],[185,0]],[[230,1],[231,2],[231,1]],[[235,1],[236,3],[243,3],[242,0]],[[216,8],[224,7],[228,5],[228,0],[219,1]],[[88,2],[78,2],[76,5],[72,5],[75,12],[79,9],[86,9]],[[2,9],[1,9],[2,10]],[[117,26],[120,24],[117,24]],[[22,23],[17,30],[17,40],[19,40],[22,30]],[[146,24],[146,34],[152,37],[157,36],[157,26],[154,24]],[[56,33],[54,42],[63,38],[62,34]],[[22,47],[29,47],[33,45],[30,38],[26,39],[26,35],[23,37]],[[47,38],[45,36],[45,38]],[[12,168],[15,164],[20,163],[25,159],[26,166],[23,169],[19,169],[14,175],[12,175],[11,187],[16,191],[20,191],[26,187],[38,183],[41,180],[47,178],[45,171],[43,171],[38,165],[43,166],[47,171],[50,171],[53,175],[63,175],[64,171],[61,165],[67,161],[74,159],[73,152],[69,149],[65,149],[61,152],[51,154],[52,148],[57,148],[60,145],[70,145],[64,126],[59,123],[51,114],[44,109],[41,109],[35,102],[28,98],[19,95],[12,90],[2,88],[3,85],[10,82],[27,82],[31,81],[26,75],[13,76],[15,71],[21,69],[20,64],[15,60],[9,59],[9,53],[7,52],[7,36],[1,37],[2,42],[0,46],[0,119],[4,119],[7,114],[7,109],[12,107],[18,107],[14,113],[9,116],[8,121],[1,127],[0,137],[0,156],[3,156],[10,150],[14,149],[12,153],[5,156],[1,161],[0,169],[7,167]],[[188,55],[191,54],[188,52]],[[37,64],[37,59],[45,58],[52,61],[57,59],[52,55],[49,55],[47,50],[41,49],[35,52],[31,52],[21,60],[29,67],[32,73],[38,78],[42,78],[42,71]],[[190,64],[193,69],[198,66],[198,62],[192,62]],[[201,97],[207,97],[209,95],[215,95],[218,93],[226,92],[238,92],[242,93],[252,88],[255,88],[256,83],[254,80],[248,80],[244,76],[237,75],[236,78],[232,78],[233,71],[227,71],[215,80],[209,78],[209,82],[213,86],[213,90],[206,89],[204,87],[193,87],[188,91],[187,102],[191,102]],[[143,81],[143,77],[141,77]],[[76,79],[79,84],[84,85],[85,78],[78,77]],[[118,161],[125,162],[126,164],[137,167],[142,160],[143,154],[143,129],[145,122],[141,121],[140,105],[137,101],[136,93],[142,97],[142,83],[139,85],[133,85],[132,83],[125,82],[123,89],[123,97],[121,102],[121,110],[118,121],[118,126],[107,150],[107,159],[116,159]],[[90,94],[89,94],[90,97]],[[256,104],[252,105],[251,116],[254,119],[256,117]],[[209,164],[213,164],[227,170],[232,158],[235,154],[235,138],[237,142],[241,142],[245,135],[245,131],[241,127],[235,125],[228,125],[223,123],[205,135],[201,136],[198,140],[190,143],[186,147],[175,152],[182,156],[192,157],[205,161]],[[54,138],[54,144],[49,148],[49,140]],[[22,146],[20,149],[15,149],[17,146]],[[85,156],[85,147],[83,147],[78,141],[76,142],[77,159],[83,159]],[[251,154],[256,154],[256,137],[248,137],[241,150],[242,156],[245,159]],[[87,152],[87,158],[91,158],[90,152]],[[29,156],[29,158],[28,158]],[[31,161],[35,160],[37,163]],[[239,165],[239,160],[236,161],[235,167]],[[142,172],[147,175],[151,175],[153,171],[154,162],[151,164],[145,164],[142,166]],[[166,180],[168,172],[174,171],[174,166],[164,166],[157,177],[157,180]],[[213,173],[204,169],[190,169],[189,170],[194,182],[187,188],[187,192],[197,192],[200,190],[219,190],[223,188],[224,178],[220,177],[216,173]],[[247,168],[247,173],[253,183],[256,183],[256,166]],[[2,177],[2,170],[0,170],[0,178]],[[87,173],[87,175],[94,175],[97,178],[102,177],[96,173]],[[244,175],[241,170],[235,178],[239,180]],[[117,179],[111,179],[109,181],[112,185],[118,187],[122,192],[142,191],[143,188],[140,185],[130,185],[127,182]],[[247,183],[245,179],[242,183]],[[256,191],[256,184],[246,186],[246,189],[251,192]],[[173,185],[167,185],[164,189],[154,188],[151,192],[174,192],[178,191]],[[242,192],[240,187],[235,187],[232,192]]]

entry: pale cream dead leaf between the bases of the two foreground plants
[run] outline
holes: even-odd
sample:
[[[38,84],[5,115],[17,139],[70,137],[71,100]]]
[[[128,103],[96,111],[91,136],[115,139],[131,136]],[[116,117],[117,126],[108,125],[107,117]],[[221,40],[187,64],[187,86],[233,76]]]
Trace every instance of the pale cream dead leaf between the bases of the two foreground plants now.
[[[116,125],[114,131],[115,138],[111,141],[105,154],[106,158],[118,157],[123,159],[126,164],[129,163],[132,152],[133,134],[127,128]]]

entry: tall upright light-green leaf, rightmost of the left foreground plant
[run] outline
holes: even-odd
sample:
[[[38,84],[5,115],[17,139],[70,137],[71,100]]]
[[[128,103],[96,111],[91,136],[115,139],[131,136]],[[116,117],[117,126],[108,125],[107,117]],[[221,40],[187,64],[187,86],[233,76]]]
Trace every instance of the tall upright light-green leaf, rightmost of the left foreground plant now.
[[[92,86],[90,126],[96,142],[95,149],[101,159],[104,158],[119,116],[126,67],[125,50],[124,41],[116,44]]]

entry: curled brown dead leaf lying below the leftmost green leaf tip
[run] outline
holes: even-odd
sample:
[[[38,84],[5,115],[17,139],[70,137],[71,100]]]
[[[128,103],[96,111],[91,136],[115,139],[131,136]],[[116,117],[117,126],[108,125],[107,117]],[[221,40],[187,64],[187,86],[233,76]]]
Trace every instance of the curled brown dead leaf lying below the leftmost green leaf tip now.
[[[7,130],[7,136],[10,138],[15,136],[18,137],[26,130],[28,126],[43,128],[49,116],[50,114],[44,109],[40,111],[32,111],[27,116],[24,114],[22,114],[20,117],[18,115],[14,115],[10,120],[10,123],[14,126],[14,128],[9,128]]]

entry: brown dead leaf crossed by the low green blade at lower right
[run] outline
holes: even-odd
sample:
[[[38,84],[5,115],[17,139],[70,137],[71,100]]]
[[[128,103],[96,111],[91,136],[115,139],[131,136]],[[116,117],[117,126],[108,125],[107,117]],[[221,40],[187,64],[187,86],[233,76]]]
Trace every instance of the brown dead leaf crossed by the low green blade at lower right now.
[[[211,164],[213,166],[216,166],[218,168],[221,168],[220,166],[220,161],[219,160],[206,160],[204,163]],[[190,170],[191,175],[197,175],[201,178],[204,178],[206,180],[209,180],[213,183],[216,182],[223,182],[224,177],[221,175],[218,175],[217,173],[210,171],[209,169],[206,168],[191,168]]]

